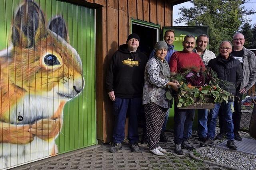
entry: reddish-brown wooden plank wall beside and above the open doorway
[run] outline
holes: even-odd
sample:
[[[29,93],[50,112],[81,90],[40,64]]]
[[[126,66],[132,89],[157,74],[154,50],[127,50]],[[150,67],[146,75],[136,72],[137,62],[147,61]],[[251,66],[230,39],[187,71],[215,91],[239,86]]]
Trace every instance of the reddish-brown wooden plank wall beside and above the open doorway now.
[[[71,1],[71,0],[70,0]],[[131,19],[172,26],[172,2],[177,0],[87,0],[96,8],[96,104],[97,139],[112,140],[112,101],[105,90],[105,78],[113,53],[126,43]],[[101,7],[98,7],[101,5]],[[126,127],[127,131],[127,127]]]

